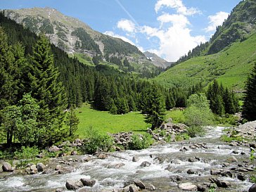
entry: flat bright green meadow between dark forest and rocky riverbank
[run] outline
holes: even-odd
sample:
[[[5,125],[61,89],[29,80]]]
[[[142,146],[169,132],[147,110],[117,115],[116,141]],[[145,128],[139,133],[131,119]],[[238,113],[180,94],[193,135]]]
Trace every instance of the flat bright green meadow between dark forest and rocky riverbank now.
[[[130,131],[141,133],[146,132],[147,127],[150,127],[139,112],[111,115],[108,111],[94,110],[91,105],[85,103],[77,109],[77,117],[79,117],[79,125],[76,134],[80,138],[87,135],[86,129],[90,126],[103,134]]]

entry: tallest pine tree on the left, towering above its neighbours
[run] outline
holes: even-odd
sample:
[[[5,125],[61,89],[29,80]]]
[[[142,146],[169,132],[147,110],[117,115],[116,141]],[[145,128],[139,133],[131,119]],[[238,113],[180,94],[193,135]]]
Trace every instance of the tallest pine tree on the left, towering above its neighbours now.
[[[40,106],[38,113],[39,143],[51,145],[65,138],[67,132],[63,129],[66,108],[65,92],[58,81],[58,71],[53,62],[49,40],[41,35],[33,49],[32,97]]]

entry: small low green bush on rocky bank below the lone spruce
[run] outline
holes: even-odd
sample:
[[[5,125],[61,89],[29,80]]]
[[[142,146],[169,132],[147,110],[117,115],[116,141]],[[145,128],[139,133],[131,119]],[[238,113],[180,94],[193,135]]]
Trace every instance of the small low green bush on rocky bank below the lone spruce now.
[[[143,137],[138,134],[133,134],[131,141],[128,143],[128,148],[131,150],[140,150],[148,148],[153,144],[153,139],[150,134],[145,134]]]

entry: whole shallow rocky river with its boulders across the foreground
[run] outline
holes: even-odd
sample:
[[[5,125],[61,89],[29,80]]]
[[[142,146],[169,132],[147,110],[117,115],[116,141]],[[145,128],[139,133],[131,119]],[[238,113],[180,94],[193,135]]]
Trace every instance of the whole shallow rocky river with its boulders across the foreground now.
[[[255,174],[251,148],[220,141],[223,129],[208,127],[203,137],[109,153],[104,158],[54,158],[44,172],[2,173],[0,191],[68,191],[67,181],[79,185],[80,179],[93,183],[77,187],[79,192],[208,191],[212,184],[218,186],[216,191],[248,191],[249,177]]]

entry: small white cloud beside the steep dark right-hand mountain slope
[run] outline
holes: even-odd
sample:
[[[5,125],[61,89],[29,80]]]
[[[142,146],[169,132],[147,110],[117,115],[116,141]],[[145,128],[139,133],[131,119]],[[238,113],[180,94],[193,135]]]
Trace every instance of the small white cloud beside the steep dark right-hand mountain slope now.
[[[205,32],[214,32],[216,30],[216,27],[219,25],[222,25],[224,20],[228,18],[229,13],[220,11],[216,13],[215,15],[210,15],[208,17],[209,21],[209,26],[205,28]]]

